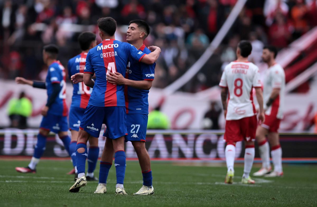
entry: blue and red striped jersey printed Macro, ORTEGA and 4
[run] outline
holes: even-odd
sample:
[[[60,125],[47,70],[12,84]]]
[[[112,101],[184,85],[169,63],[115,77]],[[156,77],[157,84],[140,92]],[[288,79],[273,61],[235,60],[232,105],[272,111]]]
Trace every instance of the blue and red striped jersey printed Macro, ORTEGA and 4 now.
[[[126,72],[130,60],[141,61],[146,54],[133,45],[105,39],[89,50],[84,73],[96,74],[95,85],[88,104],[93,106],[125,106],[124,85],[107,81],[109,72]]]

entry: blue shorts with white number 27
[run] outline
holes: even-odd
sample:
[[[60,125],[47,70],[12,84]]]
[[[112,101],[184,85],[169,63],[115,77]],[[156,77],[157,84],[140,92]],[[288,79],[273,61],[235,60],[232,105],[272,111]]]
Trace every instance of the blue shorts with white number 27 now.
[[[127,114],[126,129],[128,134],[125,136],[125,141],[145,141],[147,119],[147,114]],[[108,137],[108,129],[103,136]]]

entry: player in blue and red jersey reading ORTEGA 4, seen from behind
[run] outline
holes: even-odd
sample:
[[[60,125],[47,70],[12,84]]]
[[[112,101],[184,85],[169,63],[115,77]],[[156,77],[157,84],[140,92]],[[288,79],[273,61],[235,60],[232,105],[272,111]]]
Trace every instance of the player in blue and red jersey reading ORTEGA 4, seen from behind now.
[[[87,184],[84,174],[87,158],[87,140],[90,135],[99,137],[101,125],[105,123],[109,134],[107,140],[112,140],[113,151],[115,152],[114,162],[117,174],[115,193],[126,194],[123,188],[126,169],[124,136],[127,132],[124,86],[110,83],[106,75],[110,74],[110,72],[123,74],[126,72],[129,60],[153,64],[159,57],[160,48],[152,46],[150,48],[153,52],[145,54],[131,44],[116,41],[114,39],[116,27],[117,25],[113,18],[100,18],[98,20],[98,28],[99,35],[103,41],[90,49],[87,54],[83,81],[85,85],[92,87],[93,91],[80,125],[76,146],[78,179],[69,189],[70,192],[78,192],[80,187]],[[94,74],[96,81],[91,79]],[[102,159],[101,161],[105,162]]]

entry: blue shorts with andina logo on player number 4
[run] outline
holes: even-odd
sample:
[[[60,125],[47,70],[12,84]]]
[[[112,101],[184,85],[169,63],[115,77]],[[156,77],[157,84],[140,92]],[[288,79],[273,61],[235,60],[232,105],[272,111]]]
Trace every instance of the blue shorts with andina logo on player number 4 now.
[[[79,128],[93,137],[99,137],[103,123],[107,125],[108,138],[117,139],[126,135],[126,107],[88,104]]]

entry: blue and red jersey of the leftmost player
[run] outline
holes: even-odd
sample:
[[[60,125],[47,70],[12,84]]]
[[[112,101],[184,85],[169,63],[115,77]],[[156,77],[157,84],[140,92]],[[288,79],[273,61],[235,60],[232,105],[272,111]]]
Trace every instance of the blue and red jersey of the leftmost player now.
[[[59,116],[68,115],[68,107],[66,104],[66,73],[65,68],[60,61],[54,61],[47,72],[45,85],[47,89],[47,96],[49,97],[53,92],[52,84],[60,84],[61,90],[56,97],[54,103],[49,107],[48,113]]]

